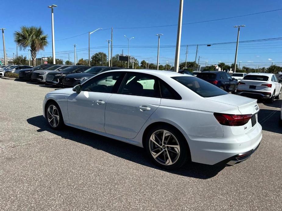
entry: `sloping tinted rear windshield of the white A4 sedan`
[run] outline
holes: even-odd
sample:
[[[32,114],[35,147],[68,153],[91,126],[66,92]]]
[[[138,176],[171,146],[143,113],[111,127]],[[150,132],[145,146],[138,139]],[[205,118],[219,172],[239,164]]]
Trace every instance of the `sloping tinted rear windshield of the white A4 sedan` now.
[[[201,97],[215,97],[219,95],[228,94],[222,89],[200,78],[191,77],[191,76],[177,76],[172,78],[178,81],[180,84],[186,86],[193,92],[197,93]]]

